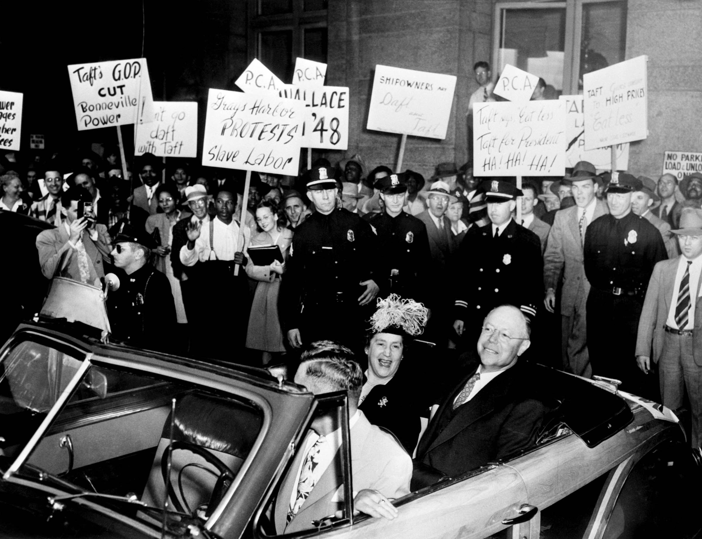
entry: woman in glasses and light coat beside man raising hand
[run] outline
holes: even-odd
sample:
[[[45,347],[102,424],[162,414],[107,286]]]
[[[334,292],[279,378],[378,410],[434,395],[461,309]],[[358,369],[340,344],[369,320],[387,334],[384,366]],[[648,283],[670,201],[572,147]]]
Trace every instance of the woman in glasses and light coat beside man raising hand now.
[[[180,281],[173,276],[171,267],[171,245],[173,244],[173,226],[179,220],[190,217],[190,212],[178,209],[178,199],[180,192],[173,183],[164,183],[156,189],[154,196],[159,201],[159,213],[150,215],[146,220],[146,232],[152,234],[159,246],[152,251],[154,267],[166,274],[168,282],[171,283],[173,300],[176,302],[176,315],[178,324],[187,324],[185,317],[185,306],[183,305],[183,293],[180,291]],[[158,232],[157,232],[158,231]]]

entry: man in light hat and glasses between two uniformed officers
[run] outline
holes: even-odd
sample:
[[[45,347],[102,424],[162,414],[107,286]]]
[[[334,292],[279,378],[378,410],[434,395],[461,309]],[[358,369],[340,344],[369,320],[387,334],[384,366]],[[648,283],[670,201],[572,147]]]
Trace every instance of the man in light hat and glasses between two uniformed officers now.
[[[451,221],[446,217],[446,210],[456,197],[449,192],[446,182],[439,180],[432,183],[429,189],[420,192],[427,199],[428,209],[419,213],[417,218],[427,227],[429,248],[432,253],[430,272],[435,277],[448,277],[446,270],[449,260],[456,251],[456,240],[451,233]]]

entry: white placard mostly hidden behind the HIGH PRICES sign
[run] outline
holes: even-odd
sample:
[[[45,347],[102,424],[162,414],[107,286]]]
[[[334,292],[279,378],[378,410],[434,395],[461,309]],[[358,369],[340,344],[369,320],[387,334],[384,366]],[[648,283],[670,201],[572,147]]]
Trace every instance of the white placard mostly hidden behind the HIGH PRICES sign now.
[[[585,149],[585,115],[582,95],[561,95],[566,103],[566,167],[573,168],[578,161],[588,161],[602,171],[611,170],[611,146]],[[616,145],[616,168],[629,168],[629,143]]]

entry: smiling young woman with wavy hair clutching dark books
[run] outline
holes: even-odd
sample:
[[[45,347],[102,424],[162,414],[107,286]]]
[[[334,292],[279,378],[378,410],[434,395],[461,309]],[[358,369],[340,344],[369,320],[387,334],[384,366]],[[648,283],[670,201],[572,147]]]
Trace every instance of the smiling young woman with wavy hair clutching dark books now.
[[[286,260],[293,232],[285,226],[285,214],[273,201],[264,200],[256,206],[256,223],[258,234],[251,237],[251,246],[277,246],[283,260]],[[278,316],[278,293],[284,272],[285,262],[274,260],[270,265],[256,266],[249,253],[246,274],[258,281],[258,285],[249,315],[246,347],[263,352],[264,365],[270,362],[273,354],[285,352]]]

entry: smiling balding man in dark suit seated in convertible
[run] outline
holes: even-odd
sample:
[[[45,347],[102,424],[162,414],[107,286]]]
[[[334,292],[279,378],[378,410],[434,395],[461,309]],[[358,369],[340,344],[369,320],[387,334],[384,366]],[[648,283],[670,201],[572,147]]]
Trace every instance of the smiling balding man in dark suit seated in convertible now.
[[[479,363],[439,405],[419,442],[417,460],[456,477],[536,443],[547,408],[529,395],[527,317],[513,305],[489,312],[478,339]]]

